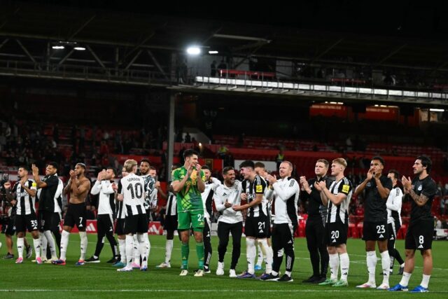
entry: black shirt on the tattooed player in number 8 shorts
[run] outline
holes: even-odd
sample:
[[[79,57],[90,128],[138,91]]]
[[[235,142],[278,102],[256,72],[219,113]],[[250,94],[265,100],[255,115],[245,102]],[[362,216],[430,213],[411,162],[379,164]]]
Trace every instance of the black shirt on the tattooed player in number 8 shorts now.
[[[423,194],[428,197],[428,201],[422,207],[419,207],[414,200],[412,200],[411,223],[419,220],[432,221],[433,216],[431,216],[431,206],[433,205],[433,199],[437,192],[435,181],[433,181],[430,176],[426,176],[426,178],[422,180],[417,176],[412,180],[412,190],[414,190],[416,195]]]

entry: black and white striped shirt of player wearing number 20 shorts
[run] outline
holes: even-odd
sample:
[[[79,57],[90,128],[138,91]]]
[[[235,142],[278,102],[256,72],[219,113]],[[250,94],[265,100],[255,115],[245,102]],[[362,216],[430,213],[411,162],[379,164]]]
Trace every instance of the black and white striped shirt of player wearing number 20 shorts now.
[[[351,194],[353,193],[351,181],[344,176],[339,181],[332,182],[328,190],[334,195],[338,195],[339,193],[345,194],[346,198],[337,205],[328,200],[327,223],[339,222],[349,224],[349,204]]]

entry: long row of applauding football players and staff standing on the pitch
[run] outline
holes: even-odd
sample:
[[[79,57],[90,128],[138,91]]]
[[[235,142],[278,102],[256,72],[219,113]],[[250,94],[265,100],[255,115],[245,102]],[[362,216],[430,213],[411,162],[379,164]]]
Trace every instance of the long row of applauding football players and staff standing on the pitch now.
[[[193,235],[198,260],[195,277],[211,273],[212,254],[211,215],[215,204],[218,218],[218,265],[216,275],[225,274],[224,257],[229,237],[232,235],[232,260],[228,270],[230,277],[239,279],[260,279],[261,281],[293,282],[292,272],[295,260],[294,232],[297,229],[297,204],[308,201],[308,218],[305,228],[307,247],[313,274],[303,282],[323,286],[349,286],[349,251],[347,232],[349,225],[349,204],[352,195],[364,193],[365,214],[363,240],[365,241],[368,280],[357,288],[377,288],[388,291],[408,291],[408,284],[414,270],[414,254],[421,251],[423,257],[423,279],[412,292],[427,292],[430,274],[433,270],[432,239],[433,221],[431,204],[436,193],[436,185],[430,178],[431,160],[422,155],[412,166],[414,179],[399,177],[391,169],[384,173],[384,160],[375,156],[370,163],[366,179],[356,188],[344,176],[346,160],[337,158],[331,164],[325,159],[316,161],[316,177],[304,176],[297,181],[292,177],[293,165],[283,161],[279,165],[279,177],[265,171],[262,163],[246,160],[239,165],[241,181],[236,179],[235,169],[223,169],[223,183],[211,176],[206,165],[198,163],[199,154],[193,150],[183,153],[184,165],[174,165],[172,181],[165,194],[150,174],[150,162],[142,160],[139,165],[141,175],[137,175],[137,161],[126,160],[118,184],[113,179],[116,170],[104,169],[90,188],[85,177],[85,165],[76,164],[70,172],[70,179],[64,187],[57,177],[57,165],[49,163],[41,180],[38,168],[32,165],[33,179],[29,179],[29,169],[19,167],[18,179],[13,188],[7,185],[7,200],[15,209],[14,225],[17,232],[18,259],[23,262],[25,233],[33,237],[36,263],[49,262],[66,265],[66,251],[69,235],[76,225],[80,235],[80,258],[76,265],[99,263],[99,254],[104,238],[109,240],[113,258],[109,260],[118,272],[130,272],[136,268],[148,270],[151,243],[148,239],[148,215],[157,207],[157,196],[167,199],[165,230],[167,242],[165,261],[158,267],[171,267],[174,232],[179,232],[181,240],[181,276],[189,273],[189,238]],[[330,169],[330,176],[328,170]],[[398,181],[402,182],[402,189]],[[85,232],[85,199],[87,194],[99,195],[98,201],[98,241],[95,253],[86,259],[87,235]],[[62,233],[59,222],[62,214],[62,193],[69,195],[69,205],[64,217]],[[409,228],[405,237],[405,260],[395,249],[395,239],[401,227],[402,197],[412,200]],[[35,200],[38,197],[38,211]],[[113,237],[118,235],[118,244]],[[11,223],[12,224],[12,223]],[[236,273],[241,254],[241,236],[246,235],[246,271]],[[7,230],[6,235],[11,232]],[[13,232],[12,232],[13,234]],[[57,258],[56,246],[59,246]],[[381,255],[383,281],[377,286],[375,269],[378,246]],[[47,249],[50,250],[47,253]],[[258,263],[255,263],[258,250]],[[47,258],[51,257],[51,258]],[[286,263],[286,271],[280,267]],[[400,283],[389,286],[394,260],[400,264]],[[255,270],[265,264],[265,272],[255,277]],[[327,277],[330,270],[330,277]],[[340,273],[340,276],[339,276]]]

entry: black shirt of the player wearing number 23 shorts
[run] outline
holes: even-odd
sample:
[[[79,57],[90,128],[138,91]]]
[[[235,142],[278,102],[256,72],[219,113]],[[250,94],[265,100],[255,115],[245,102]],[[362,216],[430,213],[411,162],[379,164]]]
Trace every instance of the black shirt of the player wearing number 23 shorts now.
[[[392,181],[387,176],[381,174],[379,181],[384,188],[392,190]],[[365,186],[364,221],[387,221],[386,202],[387,197],[383,199],[379,195],[377,181],[371,179]]]

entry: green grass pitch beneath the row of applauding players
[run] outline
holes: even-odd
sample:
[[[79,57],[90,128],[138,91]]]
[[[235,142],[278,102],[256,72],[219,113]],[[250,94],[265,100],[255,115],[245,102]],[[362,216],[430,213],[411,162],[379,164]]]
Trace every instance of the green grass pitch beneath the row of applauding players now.
[[[96,235],[88,235],[89,244],[87,258],[94,251]],[[15,239],[15,238],[14,238]],[[31,238],[28,236],[29,241]],[[0,253],[6,254],[4,235],[0,236],[3,243]],[[14,260],[0,259],[0,298],[374,298],[378,296],[393,295],[394,298],[412,296],[410,293],[388,293],[377,290],[360,290],[355,286],[367,281],[365,266],[364,243],[360,239],[349,239],[348,251],[350,256],[350,272],[348,288],[335,288],[302,284],[302,280],[311,274],[309,253],[306,240],[295,239],[295,265],[293,283],[280,284],[256,280],[231,279],[228,277],[230,265],[230,252],[225,258],[225,276],[217,277],[214,272],[217,264],[218,238],[212,237],[214,254],[211,262],[211,274],[206,277],[193,277],[190,271],[188,277],[179,277],[180,272],[180,246],[179,239],[175,239],[172,255],[171,269],[156,269],[155,265],[165,259],[165,236],[150,236],[151,254],[148,272],[116,272],[116,268],[105,263],[111,258],[109,243],[104,244],[99,264],[89,264],[82,267],[74,265],[79,258],[79,237],[73,234],[70,237],[67,265],[36,265],[31,260],[25,260],[21,265],[15,265]],[[190,240],[190,269],[197,265],[195,246]],[[32,242],[29,242],[32,244]],[[246,268],[246,254],[243,239],[241,258],[237,272]],[[231,250],[231,241],[229,251]],[[397,248],[403,252],[404,243],[398,241]],[[421,294],[424,298],[446,298],[448,295],[448,260],[446,252],[448,242],[433,242],[434,270],[430,279],[430,293]],[[379,256],[379,253],[377,253]],[[416,255],[416,269],[409,283],[409,287],[420,284],[421,257]],[[377,284],[381,283],[381,262],[377,263]],[[283,272],[283,267],[281,268]],[[398,267],[395,266],[395,273]],[[258,272],[261,274],[261,272]],[[391,286],[400,281],[400,276],[393,274],[390,279]],[[419,295],[416,295],[419,296]]]

